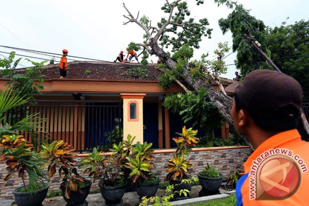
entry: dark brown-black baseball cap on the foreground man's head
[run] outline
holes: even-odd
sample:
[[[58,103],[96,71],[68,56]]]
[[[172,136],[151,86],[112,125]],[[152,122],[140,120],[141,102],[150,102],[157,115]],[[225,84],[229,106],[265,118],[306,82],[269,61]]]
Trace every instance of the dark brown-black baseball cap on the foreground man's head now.
[[[243,105],[259,116],[269,116],[285,106],[300,110],[303,90],[292,77],[269,69],[259,69],[246,75],[240,83],[226,87]]]

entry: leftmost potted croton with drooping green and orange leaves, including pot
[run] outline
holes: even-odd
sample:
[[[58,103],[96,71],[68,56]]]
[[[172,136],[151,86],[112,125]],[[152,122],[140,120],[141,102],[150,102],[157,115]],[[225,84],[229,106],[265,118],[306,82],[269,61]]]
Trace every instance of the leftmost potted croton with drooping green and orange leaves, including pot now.
[[[49,188],[49,184],[43,182],[44,179],[48,180],[47,175],[40,168],[46,161],[40,153],[32,151],[32,146],[20,135],[4,135],[0,138],[0,161],[8,166],[4,180],[9,180],[17,173],[23,181],[23,186],[13,191],[18,206],[41,206]],[[26,173],[28,185],[25,183]]]

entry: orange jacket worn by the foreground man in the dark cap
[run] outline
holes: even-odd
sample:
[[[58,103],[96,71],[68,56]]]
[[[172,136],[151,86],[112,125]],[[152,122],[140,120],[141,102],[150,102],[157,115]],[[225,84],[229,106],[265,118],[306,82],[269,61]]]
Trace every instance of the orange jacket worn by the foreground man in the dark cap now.
[[[279,149],[278,149],[279,148]],[[287,149],[287,150],[285,150]],[[266,169],[266,172],[263,173],[263,171],[265,170],[260,170],[257,169],[256,171],[256,175],[254,175],[254,173],[252,171],[254,171],[254,168],[259,168],[259,166],[254,167],[257,165],[257,162],[260,162],[260,166],[261,168],[263,165],[263,161],[265,160],[265,162],[267,163],[267,158],[265,157],[264,160],[258,160],[258,158],[263,159],[263,157],[266,154],[266,151],[276,151],[276,154],[284,154],[284,156],[289,157],[291,160],[293,160],[296,165],[299,168],[300,171],[300,185],[298,190],[291,195],[290,197],[283,199],[283,200],[269,200],[269,198],[267,198],[267,200],[256,200],[254,198],[251,197],[252,200],[250,200],[250,195],[252,195],[252,185],[254,185],[252,182],[257,179],[259,179],[259,184],[263,183],[263,179],[265,179],[265,177],[263,177],[263,174],[266,175],[267,170],[270,171],[271,168]],[[286,151],[288,151],[286,153]],[[271,154],[271,152],[270,152]],[[272,154],[271,154],[272,155]],[[270,157],[270,156],[269,156]],[[257,161],[258,160],[258,161]],[[277,160],[276,160],[277,161]],[[265,164],[266,164],[265,163]],[[289,131],[285,131],[285,132],[281,132],[278,133],[276,135],[274,135],[273,137],[268,138],[266,141],[264,141],[260,146],[258,146],[258,148],[256,148],[256,150],[250,155],[250,157],[248,158],[248,160],[244,163],[243,167],[244,167],[244,173],[248,173],[248,177],[244,180],[243,185],[241,186],[241,197],[242,197],[242,203],[243,206],[303,206],[303,205],[309,205],[309,201],[308,201],[308,185],[309,185],[309,144],[305,141],[301,140],[301,136],[299,135],[298,131],[296,129],[293,130],[289,130]],[[272,168],[275,168],[275,166],[273,166]],[[273,169],[273,170],[276,170]],[[277,170],[276,170],[277,171]],[[269,187],[271,185],[269,185],[268,179],[267,182],[263,183],[264,187],[266,188],[270,188],[270,189],[277,189],[279,187],[289,187],[289,181],[291,180],[286,180],[285,178],[288,178],[288,176],[286,174],[284,174],[286,171],[284,170],[279,170],[277,173],[273,173],[273,171],[270,171],[270,174],[267,174],[268,176],[266,176],[266,178],[273,178],[276,179],[278,181],[278,178],[282,178],[281,181],[282,183],[279,181],[278,184],[275,187]],[[289,172],[289,170],[288,170]],[[274,177],[274,175],[277,175],[277,177]],[[281,175],[283,175],[281,177]],[[284,177],[286,176],[286,177]],[[298,175],[295,175],[298,176]],[[262,179],[262,180],[261,180]],[[272,179],[272,180],[273,180]],[[251,183],[250,183],[251,181]],[[265,181],[265,180],[264,180]],[[288,182],[288,184],[286,184],[286,182]],[[273,184],[273,183],[270,183]],[[263,187],[263,185],[261,185]],[[278,187],[279,186],[279,187]],[[263,187],[263,189],[265,189]],[[263,192],[263,190],[260,190],[258,192],[258,188],[260,188],[260,185],[258,185],[258,182],[256,182],[256,186],[253,187],[255,188],[255,193],[256,193],[256,197],[258,196],[258,194],[260,194],[261,196],[263,195],[263,193],[260,193],[261,191]],[[236,188],[237,190],[237,188]],[[269,190],[270,191],[270,190]],[[268,192],[269,192],[268,191]],[[280,190],[277,190],[280,191]],[[264,190],[265,192],[265,190]],[[265,194],[265,193],[264,193]],[[260,197],[261,197],[260,196]]]

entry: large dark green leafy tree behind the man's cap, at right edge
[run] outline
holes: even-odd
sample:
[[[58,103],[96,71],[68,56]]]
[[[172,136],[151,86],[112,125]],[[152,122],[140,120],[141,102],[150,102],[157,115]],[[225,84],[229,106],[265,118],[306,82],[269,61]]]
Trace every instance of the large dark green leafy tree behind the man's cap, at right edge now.
[[[283,73],[292,76],[301,84],[305,100],[309,100],[308,33],[309,21],[300,20],[294,24],[269,28],[266,36],[273,62]]]

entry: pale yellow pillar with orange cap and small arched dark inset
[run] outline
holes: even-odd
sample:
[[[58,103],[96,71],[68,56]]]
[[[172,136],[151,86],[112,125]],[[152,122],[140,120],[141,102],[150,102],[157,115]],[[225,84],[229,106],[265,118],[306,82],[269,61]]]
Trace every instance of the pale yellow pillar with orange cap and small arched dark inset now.
[[[120,94],[123,99],[123,137],[135,136],[133,143],[143,143],[143,98],[146,94]]]

